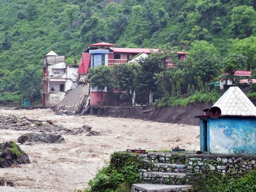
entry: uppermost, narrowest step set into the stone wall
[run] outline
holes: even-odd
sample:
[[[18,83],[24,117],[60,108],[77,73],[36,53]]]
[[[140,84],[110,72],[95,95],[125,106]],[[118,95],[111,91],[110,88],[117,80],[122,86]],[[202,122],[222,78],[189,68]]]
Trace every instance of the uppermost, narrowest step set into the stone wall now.
[[[159,172],[174,172],[174,173],[185,173],[186,165],[181,164],[169,164],[169,163],[154,163],[148,171],[159,171]]]

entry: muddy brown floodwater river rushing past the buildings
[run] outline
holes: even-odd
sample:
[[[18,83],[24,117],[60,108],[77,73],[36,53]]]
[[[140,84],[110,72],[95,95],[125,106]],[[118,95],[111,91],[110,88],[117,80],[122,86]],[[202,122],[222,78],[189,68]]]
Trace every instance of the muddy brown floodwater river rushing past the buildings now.
[[[58,116],[50,109],[0,109],[0,115],[52,120],[68,129],[91,125],[99,136],[62,135],[65,143],[19,145],[29,155],[30,164],[0,169],[0,177],[19,183],[0,191],[74,191],[87,187],[111,153],[126,149],[171,150],[179,146],[199,150],[199,126],[157,123],[129,118]],[[198,122],[199,123],[199,122]],[[0,142],[13,140],[26,131],[0,130]],[[18,143],[19,144],[19,143]]]

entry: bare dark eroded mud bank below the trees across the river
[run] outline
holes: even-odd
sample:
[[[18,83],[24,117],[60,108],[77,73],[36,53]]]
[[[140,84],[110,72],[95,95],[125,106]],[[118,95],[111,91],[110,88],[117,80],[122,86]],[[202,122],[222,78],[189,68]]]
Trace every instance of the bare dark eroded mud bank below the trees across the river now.
[[[195,115],[202,115],[203,108],[210,108],[212,103],[190,103],[186,107],[102,107],[98,109],[98,116],[139,118],[162,123],[178,123],[198,125],[199,119]]]

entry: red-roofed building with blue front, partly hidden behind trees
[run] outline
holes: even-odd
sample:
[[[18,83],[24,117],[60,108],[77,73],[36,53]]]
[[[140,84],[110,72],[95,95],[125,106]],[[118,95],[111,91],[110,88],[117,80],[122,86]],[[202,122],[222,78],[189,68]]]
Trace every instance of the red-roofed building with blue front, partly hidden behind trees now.
[[[89,68],[94,68],[99,65],[113,66],[118,63],[137,62],[140,58],[148,57],[150,53],[158,52],[159,49],[147,49],[147,48],[123,48],[115,47],[115,44],[111,43],[95,43],[89,45],[87,49],[82,53],[82,59],[79,63],[79,79],[81,82],[86,81],[86,74]],[[177,57],[183,61],[186,60],[186,52],[178,52]],[[167,61],[167,67],[174,67],[171,58]],[[104,99],[105,98],[105,99]],[[103,95],[103,100],[107,100],[107,92]],[[90,105],[98,106],[100,103],[100,97],[97,90],[90,88]]]

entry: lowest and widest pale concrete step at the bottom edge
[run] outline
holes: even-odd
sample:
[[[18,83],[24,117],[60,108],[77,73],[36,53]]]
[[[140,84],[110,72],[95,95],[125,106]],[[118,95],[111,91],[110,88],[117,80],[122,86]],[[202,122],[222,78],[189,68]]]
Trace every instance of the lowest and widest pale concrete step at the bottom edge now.
[[[159,185],[159,184],[148,184],[148,183],[134,183],[131,187],[130,192],[181,192],[186,191],[192,186],[189,185]]]

